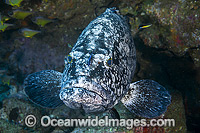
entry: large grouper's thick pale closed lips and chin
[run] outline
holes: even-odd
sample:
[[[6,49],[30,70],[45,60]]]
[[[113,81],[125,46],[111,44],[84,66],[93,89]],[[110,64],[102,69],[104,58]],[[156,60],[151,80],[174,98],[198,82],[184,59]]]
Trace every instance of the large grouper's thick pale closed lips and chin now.
[[[86,113],[105,111],[105,100],[95,92],[84,88],[67,88],[60,92],[60,99],[72,109],[83,109]]]

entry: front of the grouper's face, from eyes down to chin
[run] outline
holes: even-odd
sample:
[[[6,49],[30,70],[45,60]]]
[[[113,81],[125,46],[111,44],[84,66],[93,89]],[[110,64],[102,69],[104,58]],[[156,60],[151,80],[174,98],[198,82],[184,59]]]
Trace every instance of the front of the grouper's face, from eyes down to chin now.
[[[111,91],[103,84],[105,71],[111,67],[111,57],[73,49],[65,58],[60,99],[68,107],[84,109],[86,113],[104,112],[113,107]]]

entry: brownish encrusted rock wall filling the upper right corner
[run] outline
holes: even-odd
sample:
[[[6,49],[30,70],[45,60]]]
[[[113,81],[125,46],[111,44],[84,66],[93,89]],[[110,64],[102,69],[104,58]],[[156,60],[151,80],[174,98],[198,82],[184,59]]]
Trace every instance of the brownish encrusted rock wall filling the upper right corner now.
[[[152,24],[151,28],[139,33],[145,45],[167,49],[177,56],[189,53],[195,66],[200,66],[199,1],[126,0],[126,2],[122,2],[119,8],[124,15],[130,16],[133,34],[141,23]]]

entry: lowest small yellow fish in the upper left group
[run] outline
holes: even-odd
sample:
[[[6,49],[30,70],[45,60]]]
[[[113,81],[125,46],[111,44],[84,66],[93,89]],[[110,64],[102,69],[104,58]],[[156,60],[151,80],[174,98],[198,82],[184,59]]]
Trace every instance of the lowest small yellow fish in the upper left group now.
[[[19,30],[19,33],[21,33],[24,37],[32,38],[34,35],[41,33],[41,31],[23,28]]]

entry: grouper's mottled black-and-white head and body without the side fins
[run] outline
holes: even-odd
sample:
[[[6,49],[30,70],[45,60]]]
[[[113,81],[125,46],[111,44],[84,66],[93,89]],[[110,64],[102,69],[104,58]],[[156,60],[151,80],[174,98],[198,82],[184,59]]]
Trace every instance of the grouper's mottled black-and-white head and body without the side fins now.
[[[75,60],[65,61],[61,100],[72,108],[83,107],[86,112],[112,108],[129,89],[136,66],[135,53],[128,23],[115,10],[106,10],[85,28],[69,53]],[[92,62],[87,65],[91,56]],[[113,64],[108,66],[110,58]]]

